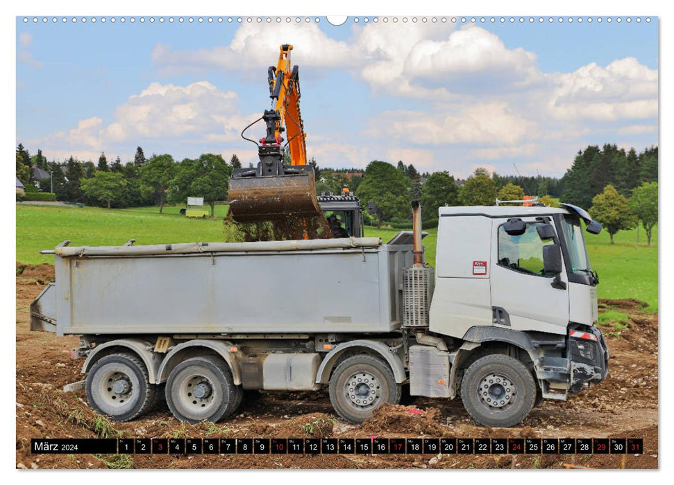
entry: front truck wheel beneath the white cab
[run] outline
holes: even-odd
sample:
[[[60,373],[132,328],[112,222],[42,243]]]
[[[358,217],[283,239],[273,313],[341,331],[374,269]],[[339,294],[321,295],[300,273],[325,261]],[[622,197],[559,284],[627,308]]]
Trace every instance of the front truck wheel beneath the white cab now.
[[[510,427],[529,414],[536,399],[536,384],[519,360],[502,354],[487,355],[464,373],[461,399],[478,423]]]

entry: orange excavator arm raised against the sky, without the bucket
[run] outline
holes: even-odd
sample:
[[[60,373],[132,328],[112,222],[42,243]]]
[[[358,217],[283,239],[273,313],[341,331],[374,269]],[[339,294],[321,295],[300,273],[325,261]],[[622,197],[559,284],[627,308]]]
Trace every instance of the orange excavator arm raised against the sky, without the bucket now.
[[[280,46],[276,69],[269,68],[269,94],[276,99],[275,109],[280,115],[280,122],[275,132],[276,138],[281,136],[285,125],[286,139],[290,148],[290,165],[307,164],[307,145],[304,123],[300,113],[300,80],[298,67],[290,64],[291,44]]]

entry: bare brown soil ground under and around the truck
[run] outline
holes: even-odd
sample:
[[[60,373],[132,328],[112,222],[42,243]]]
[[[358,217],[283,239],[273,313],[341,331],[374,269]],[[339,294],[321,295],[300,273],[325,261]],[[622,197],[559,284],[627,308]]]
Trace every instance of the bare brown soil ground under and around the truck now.
[[[178,422],[164,405],[130,423],[110,423],[88,407],[72,360],[76,337],[31,332],[31,301],[53,281],[51,265],[17,263],[17,468],[657,468],[657,315],[636,300],[604,300],[600,311],[630,315],[603,328],[609,376],[564,402],[544,401],[513,428],[476,425],[460,400],[416,398],[386,406],[362,425],[339,420],[325,391],[267,395],[213,425]],[[126,437],[631,437],[643,455],[31,455],[31,438]]]

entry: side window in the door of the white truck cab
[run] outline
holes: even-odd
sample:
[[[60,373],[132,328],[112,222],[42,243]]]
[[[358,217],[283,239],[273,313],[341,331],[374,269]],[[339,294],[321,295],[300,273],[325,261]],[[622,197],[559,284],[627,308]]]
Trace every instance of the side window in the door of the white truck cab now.
[[[527,224],[521,236],[511,236],[503,225],[498,228],[498,265],[509,270],[544,276],[543,247],[552,241],[541,241],[536,227],[541,222]]]

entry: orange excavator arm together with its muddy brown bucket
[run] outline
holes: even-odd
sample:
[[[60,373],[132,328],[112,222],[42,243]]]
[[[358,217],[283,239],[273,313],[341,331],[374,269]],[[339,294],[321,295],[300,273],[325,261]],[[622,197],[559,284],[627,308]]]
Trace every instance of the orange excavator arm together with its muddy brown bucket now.
[[[299,110],[299,73],[297,66],[290,69],[290,51],[292,45],[280,46],[277,66],[269,67],[269,97],[275,101],[275,107],[258,119],[267,125],[267,136],[258,143],[242,132],[244,139],[258,145],[260,161],[254,168],[237,168],[230,178],[230,212],[237,222],[289,216],[323,218],[316,198],[314,170],[307,165],[306,134]],[[283,132],[288,139],[290,166],[283,164]]]

